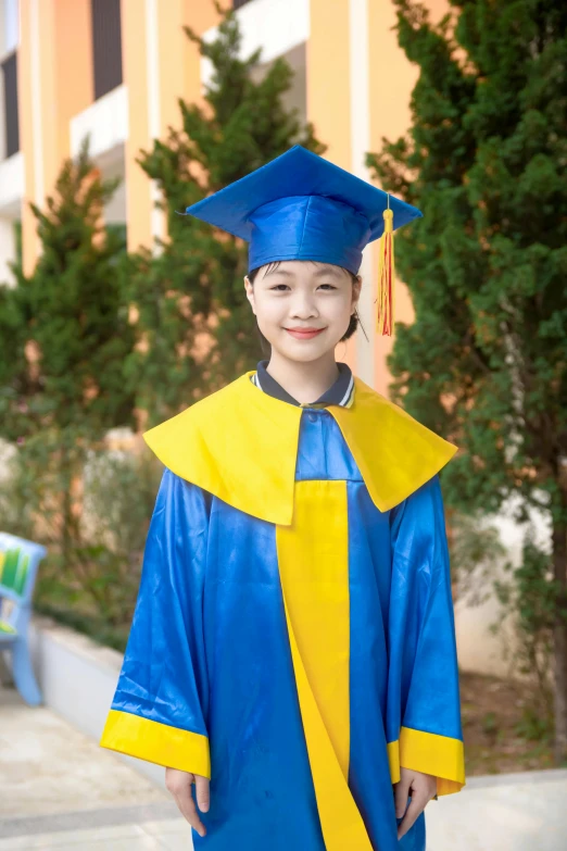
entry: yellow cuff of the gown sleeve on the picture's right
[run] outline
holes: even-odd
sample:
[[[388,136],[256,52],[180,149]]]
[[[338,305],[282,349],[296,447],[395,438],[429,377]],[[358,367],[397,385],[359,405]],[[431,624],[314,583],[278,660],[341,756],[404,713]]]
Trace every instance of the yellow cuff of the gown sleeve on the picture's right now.
[[[400,766],[437,777],[437,793],[452,794],[465,786],[465,749],[461,739],[401,727],[399,741],[388,744],[392,783]]]

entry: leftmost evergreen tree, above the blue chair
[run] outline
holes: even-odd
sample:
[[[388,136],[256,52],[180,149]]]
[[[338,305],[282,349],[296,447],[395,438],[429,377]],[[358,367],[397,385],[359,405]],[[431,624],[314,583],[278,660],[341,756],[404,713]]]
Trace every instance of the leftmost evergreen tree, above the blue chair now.
[[[26,490],[26,510],[60,545],[65,567],[80,538],[87,454],[108,429],[134,425],[124,245],[101,218],[119,178],[102,180],[88,147],[87,138],[64,162],[46,209],[30,204],[42,249],[35,270],[13,264],[16,285],[0,287],[0,437],[16,447],[14,487]]]

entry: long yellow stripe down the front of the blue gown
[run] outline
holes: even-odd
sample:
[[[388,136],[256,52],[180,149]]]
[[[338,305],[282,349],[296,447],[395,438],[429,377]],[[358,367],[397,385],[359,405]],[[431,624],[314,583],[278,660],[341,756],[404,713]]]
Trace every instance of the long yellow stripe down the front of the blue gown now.
[[[350,601],[346,483],[297,481],[276,526],[293,669],[327,851],[371,851],[348,785]]]

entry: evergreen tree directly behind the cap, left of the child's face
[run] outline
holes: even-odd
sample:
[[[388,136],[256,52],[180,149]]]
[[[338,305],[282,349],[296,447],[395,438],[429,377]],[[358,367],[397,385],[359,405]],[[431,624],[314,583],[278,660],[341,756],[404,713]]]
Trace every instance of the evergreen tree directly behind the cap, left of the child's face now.
[[[261,50],[240,59],[238,18],[216,8],[224,17],[215,41],[185,27],[213,67],[205,105],[179,99],[180,128],[169,127],[167,138],[138,160],[161,190],[169,237],[158,240],[156,255],[147,249],[131,255],[127,272],[140,339],[127,370],[148,426],[252,368],[262,355],[243,285],[247,243],[178,213],[293,143],[325,150],[312,126],[301,126],[298,111],[285,108],[289,64],[279,59],[265,71]]]

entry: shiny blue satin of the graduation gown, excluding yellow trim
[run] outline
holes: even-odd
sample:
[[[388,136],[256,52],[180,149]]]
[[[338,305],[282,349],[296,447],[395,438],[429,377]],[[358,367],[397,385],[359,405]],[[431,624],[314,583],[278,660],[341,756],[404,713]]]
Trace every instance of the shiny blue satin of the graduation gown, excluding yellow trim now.
[[[302,412],[295,479],[346,487],[349,787],[376,851],[425,851],[425,813],[396,839],[388,744],[401,726],[462,740],[439,477],[380,512],[320,409]],[[275,533],[165,468],[112,710],[207,737],[196,849],[325,851]],[[143,743],[115,749],[143,755]]]

